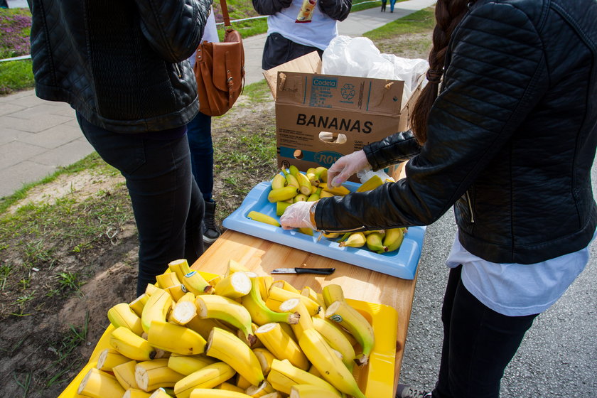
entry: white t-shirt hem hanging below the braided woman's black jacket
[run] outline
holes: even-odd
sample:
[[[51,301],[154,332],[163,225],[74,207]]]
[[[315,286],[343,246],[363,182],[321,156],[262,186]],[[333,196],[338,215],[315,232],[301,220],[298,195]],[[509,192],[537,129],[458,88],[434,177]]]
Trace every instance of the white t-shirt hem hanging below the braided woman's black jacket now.
[[[468,252],[456,233],[446,265],[462,264],[466,290],[485,306],[505,316],[526,316],[552,306],[586,267],[588,255],[585,247],[537,264],[497,264]]]

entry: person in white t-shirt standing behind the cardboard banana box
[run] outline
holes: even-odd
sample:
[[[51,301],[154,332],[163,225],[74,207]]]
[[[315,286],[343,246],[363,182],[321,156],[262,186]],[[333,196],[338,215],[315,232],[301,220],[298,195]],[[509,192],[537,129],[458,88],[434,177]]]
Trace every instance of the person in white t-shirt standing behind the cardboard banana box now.
[[[268,70],[317,51],[319,56],[338,36],[338,21],[344,21],[353,6],[352,0],[318,0],[313,18],[297,23],[303,0],[252,0],[261,15],[267,15],[267,39],[262,68]]]

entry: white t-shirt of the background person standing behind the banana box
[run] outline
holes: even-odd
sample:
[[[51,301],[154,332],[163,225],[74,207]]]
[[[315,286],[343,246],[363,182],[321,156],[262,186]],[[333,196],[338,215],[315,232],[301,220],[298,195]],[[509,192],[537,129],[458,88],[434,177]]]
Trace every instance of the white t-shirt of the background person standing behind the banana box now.
[[[292,0],[289,7],[268,16],[267,34],[280,33],[294,43],[326,50],[330,41],[338,36],[337,21],[323,14],[316,4],[311,22],[296,23],[302,4],[303,0]]]

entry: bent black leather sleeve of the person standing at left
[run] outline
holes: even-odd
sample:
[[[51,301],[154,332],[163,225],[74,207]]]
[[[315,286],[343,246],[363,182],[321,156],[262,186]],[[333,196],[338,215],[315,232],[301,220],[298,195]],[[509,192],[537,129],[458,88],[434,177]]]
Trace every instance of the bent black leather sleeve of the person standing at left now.
[[[198,47],[212,0],[136,0],[141,31],[163,60],[179,63]]]

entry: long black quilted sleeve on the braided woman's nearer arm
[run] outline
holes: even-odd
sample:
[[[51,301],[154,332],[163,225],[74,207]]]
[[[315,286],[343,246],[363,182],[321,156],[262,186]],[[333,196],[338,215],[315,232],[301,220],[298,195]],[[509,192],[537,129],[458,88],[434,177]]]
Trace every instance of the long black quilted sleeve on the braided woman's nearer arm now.
[[[429,225],[488,163],[501,161],[496,154],[547,90],[537,28],[511,4],[473,6],[453,34],[448,55],[444,89],[429,115],[428,139],[407,163],[407,178],[367,193],[321,199],[318,230]],[[367,158],[377,166],[392,158],[387,152],[394,139],[386,141],[389,147],[370,146]]]

